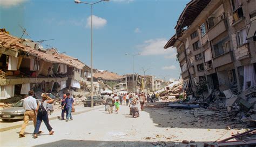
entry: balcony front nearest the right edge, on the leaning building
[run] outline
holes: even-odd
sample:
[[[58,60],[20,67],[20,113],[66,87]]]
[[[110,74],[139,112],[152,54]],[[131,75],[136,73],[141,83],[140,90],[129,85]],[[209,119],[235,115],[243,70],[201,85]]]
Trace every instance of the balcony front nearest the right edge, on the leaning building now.
[[[242,46],[239,46],[237,48],[234,48],[234,53],[235,53],[236,60],[242,60],[244,58],[250,57],[248,43],[246,43]]]

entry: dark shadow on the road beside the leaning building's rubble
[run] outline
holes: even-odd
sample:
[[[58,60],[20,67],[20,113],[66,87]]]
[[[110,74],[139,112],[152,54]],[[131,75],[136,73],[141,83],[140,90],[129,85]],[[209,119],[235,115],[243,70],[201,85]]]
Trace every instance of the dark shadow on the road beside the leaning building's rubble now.
[[[204,128],[204,129],[241,129],[244,127],[241,123],[232,121],[214,121],[214,116],[194,117],[189,109],[173,109],[167,107],[169,102],[146,103],[144,111],[150,114],[151,119],[157,127],[162,128]]]

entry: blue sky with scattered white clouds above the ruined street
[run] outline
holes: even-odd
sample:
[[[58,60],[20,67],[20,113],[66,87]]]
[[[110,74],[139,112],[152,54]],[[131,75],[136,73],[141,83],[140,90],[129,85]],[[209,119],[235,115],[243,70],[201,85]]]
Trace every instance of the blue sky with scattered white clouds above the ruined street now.
[[[83,2],[93,3],[92,0]],[[178,79],[176,49],[164,49],[189,0],[110,0],[93,5],[93,68]],[[0,0],[0,28],[91,64],[90,5],[72,0]]]

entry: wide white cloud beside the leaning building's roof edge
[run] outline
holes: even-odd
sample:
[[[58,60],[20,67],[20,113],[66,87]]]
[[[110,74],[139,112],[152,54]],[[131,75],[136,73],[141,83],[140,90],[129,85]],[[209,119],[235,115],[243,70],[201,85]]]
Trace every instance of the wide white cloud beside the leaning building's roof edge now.
[[[170,56],[174,56],[176,53],[175,48],[164,49],[164,46],[168,40],[164,38],[158,39],[150,39],[146,40],[142,43],[142,45],[138,45],[137,48],[141,51],[142,55],[165,55],[166,58],[170,58]]]

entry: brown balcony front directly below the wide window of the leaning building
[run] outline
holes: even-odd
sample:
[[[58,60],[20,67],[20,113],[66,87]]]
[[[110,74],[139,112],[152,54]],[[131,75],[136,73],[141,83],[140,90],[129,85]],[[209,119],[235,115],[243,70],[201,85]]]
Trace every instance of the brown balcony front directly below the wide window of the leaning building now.
[[[232,61],[232,52],[227,52],[222,55],[213,58],[212,66],[213,68],[218,68],[222,65],[231,63]]]

